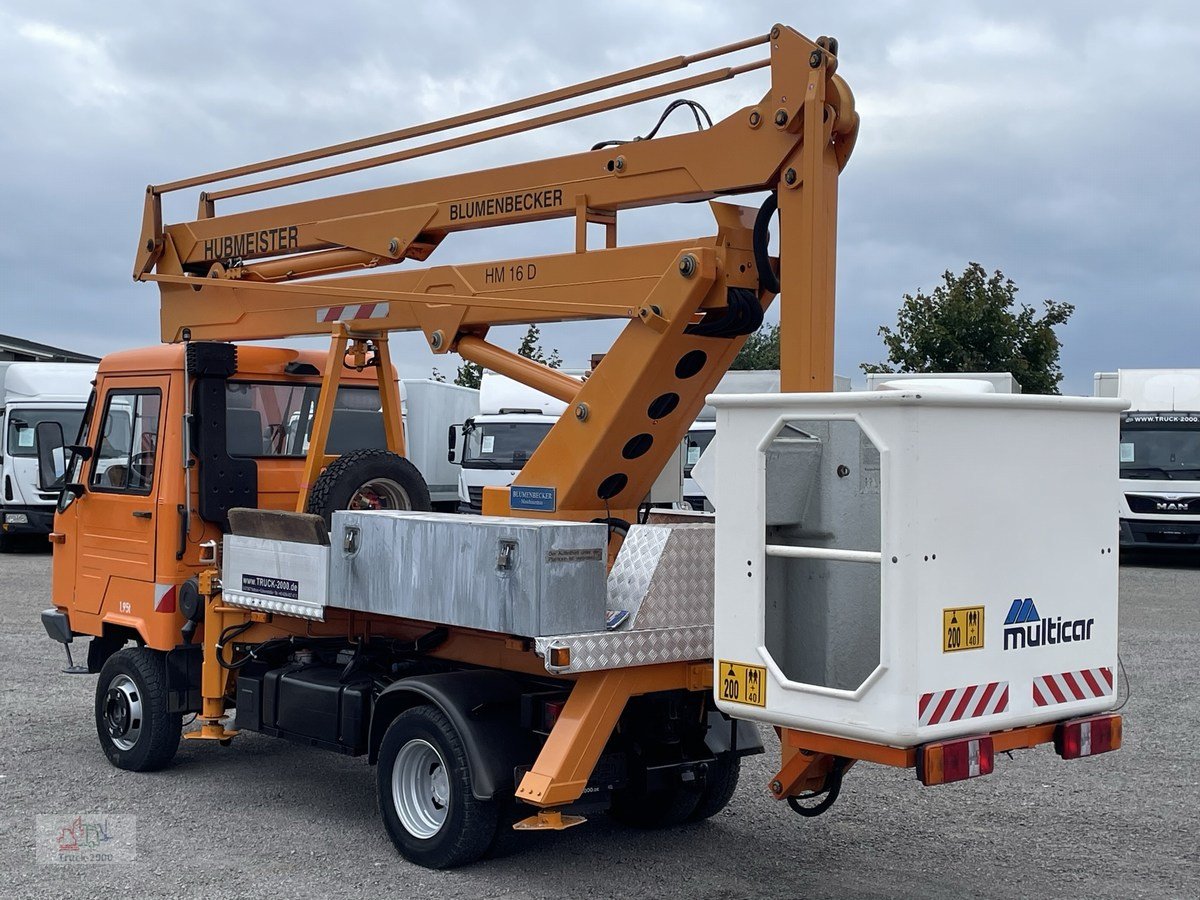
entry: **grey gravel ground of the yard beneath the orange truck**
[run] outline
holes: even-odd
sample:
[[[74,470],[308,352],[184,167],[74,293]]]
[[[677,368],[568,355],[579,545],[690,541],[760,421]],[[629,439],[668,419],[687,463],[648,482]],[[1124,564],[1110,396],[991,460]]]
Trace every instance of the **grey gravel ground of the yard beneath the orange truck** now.
[[[1200,560],[1122,566],[1121,752],[1026,751],[940,788],[862,764],[816,820],[767,797],[768,752],[707,823],[647,834],[596,817],[515,835],[509,856],[451,872],[396,856],[362,760],[247,734],[228,749],[185,742],[156,774],[112,768],[95,678],[59,674],[37,620],[49,571],[36,548],[0,557],[5,898],[1200,896]],[[136,816],[136,859],[40,864],[35,817],[80,812]]]

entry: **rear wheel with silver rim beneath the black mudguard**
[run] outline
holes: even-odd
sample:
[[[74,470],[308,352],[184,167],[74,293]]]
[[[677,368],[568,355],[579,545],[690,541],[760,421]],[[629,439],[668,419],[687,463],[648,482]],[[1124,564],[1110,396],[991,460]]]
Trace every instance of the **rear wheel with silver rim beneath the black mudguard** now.
[[[500,804],[475,798],[466,745],[436,707],[407,709],[388,726],[376,784],[388,836],[410,863],[467,865],[496,839]]]

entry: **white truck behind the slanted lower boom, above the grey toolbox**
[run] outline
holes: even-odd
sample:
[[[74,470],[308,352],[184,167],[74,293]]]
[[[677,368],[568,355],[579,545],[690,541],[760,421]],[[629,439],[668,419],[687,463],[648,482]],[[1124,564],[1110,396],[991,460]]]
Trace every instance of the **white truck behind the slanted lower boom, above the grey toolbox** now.
[[[445,457],[460,464],[458,511],[482,512],[484,488],[511,485],[564,412],[566,403],[548,394],[496,372],[484,372],[478,413],[450,427]],[[679,452],[654,482],[647,503],[674,505],[682,496],[680,444]]]

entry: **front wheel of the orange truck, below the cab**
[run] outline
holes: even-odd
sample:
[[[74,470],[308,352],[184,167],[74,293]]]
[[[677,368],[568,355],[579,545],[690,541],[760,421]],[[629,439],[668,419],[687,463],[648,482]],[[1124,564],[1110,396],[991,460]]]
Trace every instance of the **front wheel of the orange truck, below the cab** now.
[[[167,710],[167,658],[140,647],[118,650],[96,682],[96,733],[119,769],[154,772],[175,756],[182,713]]]

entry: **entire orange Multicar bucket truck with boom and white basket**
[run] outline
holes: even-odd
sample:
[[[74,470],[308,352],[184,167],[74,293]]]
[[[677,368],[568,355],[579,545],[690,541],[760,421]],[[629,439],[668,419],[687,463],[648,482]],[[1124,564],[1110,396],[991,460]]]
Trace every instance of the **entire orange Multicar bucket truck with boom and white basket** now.
[[[1006,751],[1118,748],[1123,403],[833,392],[838,179],[858,133],[838,64],[835,40],[775,25],[149,187],[134,275],[158,288],[167,346],[100,366],[66,450],[42,617],[68,652],[88,642],[77,668],[98,674],[112,763],[169,766],[192,714],[182,737],[212,752],[258,732],[361,756],[398,851],[445,868],[502,830],[604,811],[638,827],[708,818],[764,749],[755,722],[778,736],[766,793],[804,816],[828,811],[859,762],[942,785],[1002,768]],[[688,66],[700,71],[670,74]],[[260,196],[756,70],[766,94],[696,132],[596,134],[554,158],[346,194],[317,184],[283,205]],[[625,92],[572,106],[607,89]],[[466,131],[419,140],[451,127]],[[281,166],[301,168],[254,179]],[[162,198],[191,188],[198,217],[166,221]],[[713,233],[618,241],[624,210],[697,202]],[[565,252],[430,262],[463,230],[538,220],[562,221]],[[781,392],[713,395],[776,299]],[[624,324],[586,382],[488,340],[599,318]],[[565,404],[514,482],[484,488],[481,516],[427,511],[390,374],[397,330]],[[319,334],[323,359],[238,343]],[[338,445],[338,388],[372,377],[388,449]],[[721,434],[715,522],[640,523],[706,398]],[[298,407],[311,428],[284,426]],[[64,436],[37,428],[44,490]],[[268,798],[242,800],[210,815]]]

